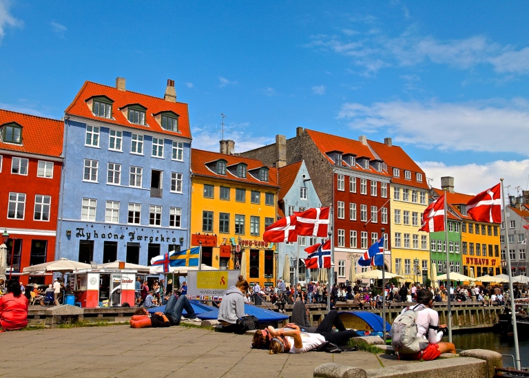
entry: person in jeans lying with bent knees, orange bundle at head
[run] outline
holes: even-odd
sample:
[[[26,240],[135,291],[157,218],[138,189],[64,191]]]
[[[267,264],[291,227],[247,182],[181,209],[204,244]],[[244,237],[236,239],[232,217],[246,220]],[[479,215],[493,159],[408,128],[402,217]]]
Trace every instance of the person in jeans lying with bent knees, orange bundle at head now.
[[[178,300],[176,295],[171,295],[163,313],[149,314],[145,308],[138,308],[134,311],[134,315],[130,319],[130,326],[132,328],[178,326],[184,310],[187,311],[187,320],[191,322],[200,321],[195,317],[195,311],[185,295],[180,295]]]

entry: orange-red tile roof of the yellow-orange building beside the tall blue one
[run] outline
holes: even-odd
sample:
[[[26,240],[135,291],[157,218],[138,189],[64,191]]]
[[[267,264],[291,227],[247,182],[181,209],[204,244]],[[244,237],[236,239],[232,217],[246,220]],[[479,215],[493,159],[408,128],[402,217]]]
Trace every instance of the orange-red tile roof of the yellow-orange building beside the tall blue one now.
[[[202,149],[191,149],[191,171],[194,175],[208,176],[211,178],[219,178],[221,180],[232,180],[238,182],[246,182],[248,184],[265,185],[267,187],[279,187],[278,184],[278,169],[266,167],[268,169],[268,182],[262,182],[251,174],[247,173],[246,178],[240,178],[231,174],[228,170],[225,175],[216,174],[211,171],[206,164],[216,160],[227,160],[227,166],[238,165],[243,163],[247,165],[247,171],[265,167],[261,160],[242,158],[240,156],[220,154],[220,152],[204,151]]]

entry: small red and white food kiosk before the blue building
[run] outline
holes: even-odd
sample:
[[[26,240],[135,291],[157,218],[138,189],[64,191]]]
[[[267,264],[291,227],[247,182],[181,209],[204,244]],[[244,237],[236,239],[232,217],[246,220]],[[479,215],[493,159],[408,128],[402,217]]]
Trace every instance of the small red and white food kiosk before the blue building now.
[[[81,307],[134,306],[136,273],[125,269],[82,269],[70,275],[70,288]]]

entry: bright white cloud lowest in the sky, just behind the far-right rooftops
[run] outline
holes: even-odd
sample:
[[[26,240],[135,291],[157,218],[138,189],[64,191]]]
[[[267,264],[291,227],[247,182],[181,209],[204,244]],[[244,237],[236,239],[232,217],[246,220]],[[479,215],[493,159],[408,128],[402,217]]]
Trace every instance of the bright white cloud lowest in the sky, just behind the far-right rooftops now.
[[[441,178],[454,178],[454,189],[458,193],[477,194],[488,189],[504,178],[504,185],[510,185],[509,193],[517,194],[515,187],[528,189],[529,160],[497,160],[484,165],[444,165],[442,162],[417,162],[424,170],[427,178],[433,180],[429,184],[435,188],[441,187]],[[506,189],[507,193],[507,189]],[[520,192],[521,193],[521,192]]]

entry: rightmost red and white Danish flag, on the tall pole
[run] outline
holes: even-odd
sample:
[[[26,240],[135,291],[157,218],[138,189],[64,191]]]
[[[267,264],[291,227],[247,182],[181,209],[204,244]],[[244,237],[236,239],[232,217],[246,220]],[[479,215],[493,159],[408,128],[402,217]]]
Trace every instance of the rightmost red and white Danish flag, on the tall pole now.
[[[501,223],[501,187],[482,191],[466,203],[466,213],[476,222]]]

